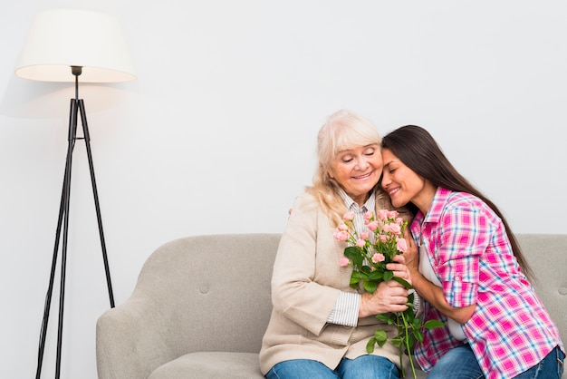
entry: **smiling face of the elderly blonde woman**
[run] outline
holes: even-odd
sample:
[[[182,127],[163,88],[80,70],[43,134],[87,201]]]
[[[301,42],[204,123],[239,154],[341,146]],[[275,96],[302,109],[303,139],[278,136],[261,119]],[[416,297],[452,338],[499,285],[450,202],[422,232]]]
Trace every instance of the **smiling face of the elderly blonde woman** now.
[[[378,144],[339,151],[329,167],[329,176],[360,206],[369,198],[381,173],[382,157]]]

